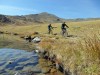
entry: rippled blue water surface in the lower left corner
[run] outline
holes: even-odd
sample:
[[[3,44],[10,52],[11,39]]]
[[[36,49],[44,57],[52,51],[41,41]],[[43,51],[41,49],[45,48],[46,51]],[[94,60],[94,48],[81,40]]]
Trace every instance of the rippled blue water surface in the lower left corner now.
[[[0,49],[0,75],[15,74],[34,68],[38,64],[38,55],[17,49]]]

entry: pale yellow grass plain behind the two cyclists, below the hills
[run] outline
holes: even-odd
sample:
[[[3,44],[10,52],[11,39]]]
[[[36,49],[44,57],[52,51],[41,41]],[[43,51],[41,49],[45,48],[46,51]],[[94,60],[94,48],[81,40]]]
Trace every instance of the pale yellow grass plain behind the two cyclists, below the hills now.
[[[83,21],[83,22],[68,22],[69,34],[81,35],[84,33],[99,32],[100,31],[100,20],[94,21]],[[29,34],[33,32],[39,33],[47,33],[47,25],[48,24],[33,24],[27,26],[17,26],[17,25],[9,25],[9,26],[1,26],[0,31],[8,31],[8,32],[16,32],[22,34]],[[53,32],[60,34],[61,32],[61,23],[52,24],[54,28]]]

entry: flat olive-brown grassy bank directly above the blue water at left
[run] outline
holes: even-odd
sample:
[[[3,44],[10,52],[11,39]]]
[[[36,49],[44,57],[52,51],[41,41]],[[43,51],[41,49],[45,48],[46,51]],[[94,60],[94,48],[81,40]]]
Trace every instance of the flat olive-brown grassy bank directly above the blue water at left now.
[[[14,48],[31,51],[35,49],[35,46],[18,36],[2,34],[0,35],[0,48]]]

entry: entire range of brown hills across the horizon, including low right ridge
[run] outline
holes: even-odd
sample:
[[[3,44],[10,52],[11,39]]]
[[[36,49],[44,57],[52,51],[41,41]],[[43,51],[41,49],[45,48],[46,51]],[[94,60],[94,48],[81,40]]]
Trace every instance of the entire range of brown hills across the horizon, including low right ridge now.
[[[0,25],[4,24],[29,25],[33,23],[61,23],[64,21],[80,22],[80,21],[91,21],[91,20],[100,20],[100,18],[63,19],[47,12],[39,14],[21,15],[21,16],[0,15]]]

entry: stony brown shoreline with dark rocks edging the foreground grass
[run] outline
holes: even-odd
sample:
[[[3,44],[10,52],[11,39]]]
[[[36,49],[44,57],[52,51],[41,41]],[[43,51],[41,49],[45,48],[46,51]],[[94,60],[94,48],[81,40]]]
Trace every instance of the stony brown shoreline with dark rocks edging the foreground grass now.
[[[50,56],[50,53],[45,50],[36,51],[39,55],[39,65],[43,69],[45,68],[44,74],[46,75],[66,75],[63,69],[62,63],[57,62],[57,58]],[[47,68],[47,69],[46,69]],[[69,75],[69,74],[68,74]]]

